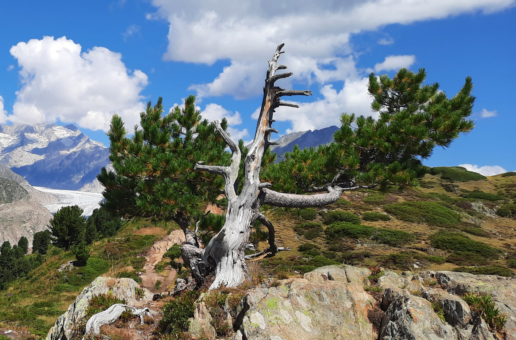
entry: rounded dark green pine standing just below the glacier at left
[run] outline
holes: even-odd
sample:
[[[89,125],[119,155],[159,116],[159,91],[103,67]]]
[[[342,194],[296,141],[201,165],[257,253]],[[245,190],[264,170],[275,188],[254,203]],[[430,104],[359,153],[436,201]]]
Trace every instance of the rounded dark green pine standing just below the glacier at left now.
[[[86,225],[83,212],[77,205],[72,205],[63,206],[54,214],[54,218],[50,220],[53,245],[68,251],[71,246],[82,241]]]

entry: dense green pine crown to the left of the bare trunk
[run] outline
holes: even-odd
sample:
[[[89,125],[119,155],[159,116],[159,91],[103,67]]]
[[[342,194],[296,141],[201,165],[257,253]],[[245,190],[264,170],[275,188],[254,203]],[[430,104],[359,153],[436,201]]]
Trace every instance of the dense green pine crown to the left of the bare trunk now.
[[[201,120],[193,95],[183,109],[165,116],[162,98],[154,106],[149,102],[140,125],[128,138],[122,119],[111,120],[109,159],[115,171],[102,169],[97,177],[106,188],[102,207],[116,216],[175,221],[186,230],[202,214],[201,202],[214,202],[223,187],[219,176],[191,170],[200,159],[227,164],[225,143],[213,123]],[[227,122],[222,125],[225,129]]]

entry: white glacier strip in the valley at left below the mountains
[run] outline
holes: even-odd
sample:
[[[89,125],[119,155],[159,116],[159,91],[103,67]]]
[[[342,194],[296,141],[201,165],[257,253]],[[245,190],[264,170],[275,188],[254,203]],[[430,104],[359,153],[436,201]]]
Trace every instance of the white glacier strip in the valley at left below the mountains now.
[[[104,199],[102,193],[96,192],[59,190],[43,187],[34,188],[44,193],[50,193],[50,195],[57,198],[57,203],[43,204],[52,214],[57,212],[57,210],[63,206],[78,205],[84,210],[84,216],[90,216],[93,213],[93,209],[100,208],[99,202]]]

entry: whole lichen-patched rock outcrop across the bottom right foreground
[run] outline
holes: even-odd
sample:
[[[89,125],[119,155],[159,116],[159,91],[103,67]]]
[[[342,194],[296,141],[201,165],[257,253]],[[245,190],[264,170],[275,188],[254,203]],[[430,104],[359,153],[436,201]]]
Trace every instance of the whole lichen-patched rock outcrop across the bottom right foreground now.
[[[468,292],[492,294],[498,309],[507,315],[505,338],[516,339],[516,278],[385,271],[377,283],[383,296],[372,294],[377,301],[364,290],[372,285],[369,275],[367,268],[328,266],[304,274],[302,279],[270,281],[252,288],[242,299],[236,318],[228,317],[235,330],[231,340],[495,339],[486,322],[461,299]],[[190,334],[214,340],[217,336],[202,302],[205,298],[203,294],[190,320]],[[380,307],[384,314],[381,322],[375,323],[371,312],[381,315]]]

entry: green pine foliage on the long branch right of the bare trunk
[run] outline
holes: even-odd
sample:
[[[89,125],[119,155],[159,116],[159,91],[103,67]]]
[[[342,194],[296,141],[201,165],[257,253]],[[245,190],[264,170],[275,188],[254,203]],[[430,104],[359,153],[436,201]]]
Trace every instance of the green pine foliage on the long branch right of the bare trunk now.
[[[448,99],[438,83],[422,85],[425,77],[424,69],[400,69],[392,79],[371,73],[367,90],[378,119],[343,114],[333,143],[295,147],[279,164],[267,166],[262,180],[271,183],[272,190],[295,193],[327,188],[342,192],[360,184],[417,185],[421,160],[437,145],[448,147],[474,127],[467,119],[475,100],[471,78]]]

